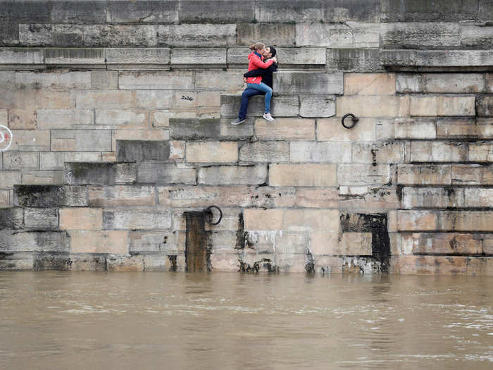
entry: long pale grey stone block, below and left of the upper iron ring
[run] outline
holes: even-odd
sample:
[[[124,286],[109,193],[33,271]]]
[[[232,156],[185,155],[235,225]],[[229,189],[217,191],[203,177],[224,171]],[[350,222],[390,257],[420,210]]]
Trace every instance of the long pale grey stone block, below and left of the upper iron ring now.
[[[350,142],[289,142],[289,161],[350,163]]]

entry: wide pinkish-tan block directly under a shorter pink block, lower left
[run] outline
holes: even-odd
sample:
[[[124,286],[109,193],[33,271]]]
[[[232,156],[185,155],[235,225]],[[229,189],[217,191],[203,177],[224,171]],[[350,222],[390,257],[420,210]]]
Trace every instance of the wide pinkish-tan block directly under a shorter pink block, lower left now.
[[[128,253],[128,231],[70,230],[72,253]]]

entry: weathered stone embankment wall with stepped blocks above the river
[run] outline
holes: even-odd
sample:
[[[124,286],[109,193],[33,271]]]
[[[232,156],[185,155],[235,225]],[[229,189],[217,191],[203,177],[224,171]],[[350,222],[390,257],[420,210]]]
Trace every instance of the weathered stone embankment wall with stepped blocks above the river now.
[[[490,0],[1,1],[0,269],[184,270],[186,215],[214,204],[213,271],[493,275],[492,19]],[[232,126],[258,40],[277,119],[255,97]]]

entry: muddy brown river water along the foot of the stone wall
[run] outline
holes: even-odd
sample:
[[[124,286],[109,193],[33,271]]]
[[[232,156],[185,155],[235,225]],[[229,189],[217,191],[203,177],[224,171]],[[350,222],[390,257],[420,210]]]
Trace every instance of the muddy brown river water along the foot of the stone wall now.
[[[0,369],[493,369],[493,278],[0,272]]]

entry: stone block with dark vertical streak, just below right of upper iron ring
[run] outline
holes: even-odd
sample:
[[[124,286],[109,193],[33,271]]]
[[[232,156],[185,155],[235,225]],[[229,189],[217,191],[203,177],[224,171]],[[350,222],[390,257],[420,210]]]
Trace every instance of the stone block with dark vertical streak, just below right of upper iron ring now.
[[[404,162],[404,143],[384,142],[374,144],[354,142],[352,162],[363,164],[401,164]]]

